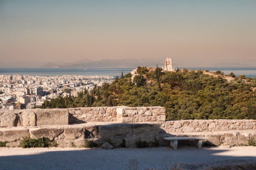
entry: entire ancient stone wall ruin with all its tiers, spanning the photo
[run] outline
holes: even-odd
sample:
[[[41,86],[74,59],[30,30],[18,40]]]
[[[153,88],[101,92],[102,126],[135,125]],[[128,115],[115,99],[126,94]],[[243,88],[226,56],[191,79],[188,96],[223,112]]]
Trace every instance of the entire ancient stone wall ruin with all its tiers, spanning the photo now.
[[[126,147],[138,140],[159,141],[164,137],[204,136],[210,145],[246,145],[256,139],[256,120],[175,120],[165,121],[164,107],[80,107],[69,109],[33,109],[0,112],[0,141],[18,146],[25,137],[50,138],[60,147],[86,140],[97,144],[111,141]],[[188,141],[193,143],[193,141]]]

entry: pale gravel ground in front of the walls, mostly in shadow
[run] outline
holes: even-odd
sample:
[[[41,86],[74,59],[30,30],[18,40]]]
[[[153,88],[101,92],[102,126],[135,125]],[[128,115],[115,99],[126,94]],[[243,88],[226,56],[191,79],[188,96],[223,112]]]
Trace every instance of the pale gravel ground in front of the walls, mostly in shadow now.
[[[233,148],[182,146],[159,148],[0,148],[0,170],[127,170],[130,160],[138,169],[170,168],[172,164],[205,163],[219,160],[256,160],[256,147]],[[131,165],[131,164],[130,164]]]

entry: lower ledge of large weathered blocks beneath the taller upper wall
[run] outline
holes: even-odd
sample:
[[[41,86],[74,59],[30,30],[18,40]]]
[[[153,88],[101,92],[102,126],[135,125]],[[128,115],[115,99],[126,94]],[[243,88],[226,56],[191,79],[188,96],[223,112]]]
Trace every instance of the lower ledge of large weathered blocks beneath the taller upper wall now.
[[[18,146],[20,140],[30,138],[50,138],[55,140],[59,147],[82,147],[86,140],[93,140],[98,145],[110,141],[114,147],[118,147],[125,139],[126,147],[136,147],[138,140],[154,142],[163,138],[157,123],[110,123],[110,124],[77,124],[55,125],[42,127],[12,127],[0,128],[0,141],[7,141],[7,146]],[[160,145],[168,145],[163,141]]]

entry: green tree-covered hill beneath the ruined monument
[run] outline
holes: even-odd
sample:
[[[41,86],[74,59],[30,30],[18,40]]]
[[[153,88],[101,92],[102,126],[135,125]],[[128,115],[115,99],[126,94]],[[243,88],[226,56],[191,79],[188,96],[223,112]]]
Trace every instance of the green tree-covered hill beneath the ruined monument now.
[[[159,67],[138,67],[136,73],[77,97],[46,100],[42,107],[163,106],[166,120],[256,119],[256,78],[241,75],[228,82],[220,71],[212,76],[208,71],[163,72]]]

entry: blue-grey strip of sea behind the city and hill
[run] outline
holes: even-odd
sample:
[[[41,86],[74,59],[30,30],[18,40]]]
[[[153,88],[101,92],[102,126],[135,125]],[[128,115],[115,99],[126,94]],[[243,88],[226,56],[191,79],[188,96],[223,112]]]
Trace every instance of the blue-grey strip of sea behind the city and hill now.
[[[136,67],[117,67],[117,68],[0,68],[0,75],[38,75],[38,76],[55,76],[55,75],[108,75],[120,77],[131,72]],[[184,67],[179,67],[182,69]],[[220,70],[224,74],[233,72],[236,76],[245,75],[246,77],[256,77],[256,67],[185,67],[189,70],[209,70],[215,72]]]

